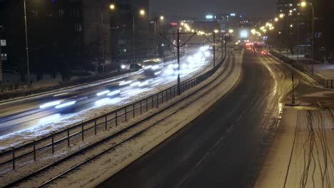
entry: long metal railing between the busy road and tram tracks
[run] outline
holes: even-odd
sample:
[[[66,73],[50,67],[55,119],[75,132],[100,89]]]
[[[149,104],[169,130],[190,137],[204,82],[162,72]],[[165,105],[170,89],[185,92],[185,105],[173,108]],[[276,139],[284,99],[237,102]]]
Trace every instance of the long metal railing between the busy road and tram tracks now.
[[[210,71],[198,75],[196,78],[190,78],[183,81],[181,83],[181,93],[195,87],[203,82],[203,80],[206,80],[213,75],[213,73],[216,73],[225,58],[226,56]],[[33,142],[29,142],[19,147],[13,147],[11,150],[0,153],[0,169],[3,167],[6,169],[16,169],[17,166],[24,166],[25,164],[29,164],[29,162],[34,162],[48,155],[54,155],[56,150],[70,147],[77,142],[85,140],[86,137],[93,137],[99,132],[105,132],[108,129],[118,127],[124,122],[128,122],[128,120],[134,119],[143,113],[147,113],[153,108],[158,108],[159,105],[167,103],[169,100],[172,100],[177,96],[177,85],[173,85],[159,93],[113,110],[111,113],[106,113],[105,115],[82,122],[79,125],[69,127],[65,130],[55,132],[52,135],[43,137],[39,140],[34,140]]]

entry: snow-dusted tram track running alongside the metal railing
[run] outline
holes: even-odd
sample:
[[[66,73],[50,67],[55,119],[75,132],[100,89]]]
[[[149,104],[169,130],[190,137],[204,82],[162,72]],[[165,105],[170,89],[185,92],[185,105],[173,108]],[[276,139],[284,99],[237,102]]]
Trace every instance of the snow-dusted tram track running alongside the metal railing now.
[[[231,53],[230,53],[231,56]],[[232,61],[229,61],[228,63],[230,64],[231,62],[233,62],[235,60],[235,58],[233,56],[232,57]],[[222,63],[221,63],[222,64]],[[210,66],[207,66],[206,68],[203,69],[203,71],[206,71],[206,69],[208,69]],[[229,70],[229,72],[227,73],[227,75],[221,79],[218,83],[215,83],[215,85],[213,85],[213,87],[210,90],[206,90],[205,93],[203,93],[202,95],[198,96],[198,98],[203,97],[203,95],[206,95],[207,93],[211,92],[211,90],[213,90],[214,88],[216,88],[217,85],[223,83],[224,80],[226,80],[226,78],[228,78],[229,75],[231,75],[231,73],[233,72],[233,69],[235,68],[235,63],[232,63],[231,65],[231,69]],[[221,72],[221,75],[223,73],[226,72],[226,68],[228,67],[228,65],[226,65],[226,67],[224,68],[224,70]],[[197,73],[196,75],[200,75],[201,73],[203,73],[203,71],[201,71],[200,73]],[[219,75],[219,76],[221,76]],[[150,120],[151,118],[155,117],[158,114],[163,113],[164,110],[173,107],[174,105],[176,105],[177,103],[180,103],[183,100],[188,99],[189,97],[191,97],[191,95],[193,95],[194,93],[198,93],[200,90],[205,89],[208,85],[211,85],[215,80],[211,80],[209,83],[206,83],[206,85],[203,85],[201,88],[199,88],[196,91],[193,91],[193,93],[185,96],[184,98],[182,98],[181,100],[178,100],[175,103],[172,103],[170,105],[168,105],[166,108],[159,110],[156,113],[153,113],[151,115],[149,115],[148,117],[144,118],[143,120],[140,120],[138,122],[136,122],[133,125],[130,125],[126,128],[124,128],[123,130],[120,130],[118,132],[116,132],[113,135],[110,135],[108,137],[103,138],[103,140],[99,140],[98,142],[95,142],[91,145],[89,145],[88,147],[84,147],[81,150],[74,152],[73,154],[64,157],[61,160],[58,160],[52,164],[49,164],[45,167],[42,167],[41,169],[36,170],[35,172],[26,175],[25,177],[22,177],[21,179],[16,180],[15,182],[12,182],[11,184],[7,184],[5,187],[16,187],[19,186],[21,183],[24,182],[28,182],[29,180],[31,180],[34,177],[37,176],[41,176],[43,174],[54,174],[52,178],[49,178],[47,181],[43,181],[40,182],[37,186],[34,187],[46,187],[47,185],[51,184],[52,182],[56,181],[57,179],[64,177],[66,174],[69,174],[69,172],[73,172],[76,169],[79,169],[79,167],[83,166],[84,164],[87,164],[88,162],[91,162],[93,160],[96,160],[98,157],[101,157],[102,155],[105,155],[107,152],[111,152],[112,150],[114,150],[116,147],[122,145],[124,142],[127,142],[128,140],[132,140],[135,137],[138,137],[139,135],[141,135],[143,132],[146,132],[146,130],[151,129],[152,127],[154,127],[155,125],[157,125],[159,122],[162,122],[163,120],[166,120],[168,117],[171,117],[171,115],[178,113],[178,111],[182,110],[183,107],[179,110],[177,110],[174,113],[171,113],[170,115],[167,115],[166,117],[163,117],[161,120],[158,120],[156,122],[154,122],[151,125],[148,125],[146,127],[144,127],[143,129],[137,131],[135,134],[132,134],[128,137],[126,137],[125,139],[121,140],[120,142],[116,142],[111,144],[111,142],[113,142],[113,139],[115,139],[116,137],[126,134],[126,132],[128,132],[129,130],[137,127],[138,125],[140,125],[142,122],[146,122],[147,120]],[[163,98],[163,96],[161,96],[161,98]],[[145,104],[144,104],[145,105]],[[105,147],[105,146],[108,147]],[[99,152],[97,152],[97,154],[94,152],[94,155],[91,155],[93,150],[99,150]],[[80,162],[78,162],[79,159],[81,159]],[[82,160],[84,159],[84,160]],[[67,166],[69,168],[64,169],[63,167]],[[58,171],[58,172],[56,172]]]

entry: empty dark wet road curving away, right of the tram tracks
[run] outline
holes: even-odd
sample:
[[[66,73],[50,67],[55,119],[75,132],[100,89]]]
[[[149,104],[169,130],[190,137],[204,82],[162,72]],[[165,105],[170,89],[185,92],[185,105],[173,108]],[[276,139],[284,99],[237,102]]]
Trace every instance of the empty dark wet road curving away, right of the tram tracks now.
[[[252,187],[275,134],[284,73],[273,58],[245,53],[228,95],[98,187]]]

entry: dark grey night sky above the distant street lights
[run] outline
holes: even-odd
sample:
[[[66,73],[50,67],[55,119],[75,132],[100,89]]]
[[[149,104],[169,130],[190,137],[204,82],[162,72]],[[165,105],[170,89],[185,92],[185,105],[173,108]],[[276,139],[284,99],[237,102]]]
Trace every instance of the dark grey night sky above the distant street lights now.
[[[231,13],[270,18],[278,0],[150,0],[151,9],[166,16],[194,16]]]

